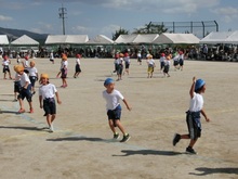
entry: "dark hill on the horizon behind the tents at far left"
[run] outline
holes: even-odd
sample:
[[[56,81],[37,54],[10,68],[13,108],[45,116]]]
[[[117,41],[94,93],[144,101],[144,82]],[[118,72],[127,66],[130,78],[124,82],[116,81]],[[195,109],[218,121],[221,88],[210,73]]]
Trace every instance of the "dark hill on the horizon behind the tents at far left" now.
[[[41,44],[44,43],[48,37],[48,34],[37,34],[37,33],[28,31],[28,30],[11,29],[11,28],[2,28],[2,27],[0,27],[0,35],[6,35],[9,38],[9,41],[13,41],[23,35],[27,35],[34,40],[39,41]]]

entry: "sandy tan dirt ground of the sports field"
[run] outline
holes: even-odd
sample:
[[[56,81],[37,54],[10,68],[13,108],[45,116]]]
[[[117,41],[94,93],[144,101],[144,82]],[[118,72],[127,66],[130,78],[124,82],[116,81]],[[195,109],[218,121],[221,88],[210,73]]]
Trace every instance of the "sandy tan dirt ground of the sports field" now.
[[[171,67],[163,78],[156,60],[154,78],[147,78],[145,61],[131,60],[130,75],[116,81],[132,111],[122,104],[121,122],[132,136],[127,143],[113,140],[102,91],[107,77],[117,79],[111,59],[82,59],[82,73],[72,78],[75,59],[69,59],[68,87],[56,78],[60,59],[36,59],[36,67],[50,75],[62,104],[57,105],[55,132],[47,126],[34,95],[35,113],[17,114],[13,80],[0,79],[0,178],[2,179],[236,179],[238,178],[238,63],[186,61],[184,71]],[[12,60],[13,66],[16,64]],[[172,145],[175,132],[187,133],[185,112],[193,76],[203,78],[202,136],[195,145],[198,155],[185,154],[188,140]],[[39,84],[37,84],[38,90]],[[25,101],[28,111],[28,104]],[[121,133],[120,133],[121,135]]]

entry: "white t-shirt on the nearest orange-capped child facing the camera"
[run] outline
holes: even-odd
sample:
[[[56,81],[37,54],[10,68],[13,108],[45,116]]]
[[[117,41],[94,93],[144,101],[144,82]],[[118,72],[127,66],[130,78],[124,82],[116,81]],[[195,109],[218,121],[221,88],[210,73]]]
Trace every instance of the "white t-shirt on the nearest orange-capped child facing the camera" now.
[[[42,95],[42,99],[54,98],[55,92],[57,92],[56,87],[53,84],[42,85],[39,88],[39,95]]]

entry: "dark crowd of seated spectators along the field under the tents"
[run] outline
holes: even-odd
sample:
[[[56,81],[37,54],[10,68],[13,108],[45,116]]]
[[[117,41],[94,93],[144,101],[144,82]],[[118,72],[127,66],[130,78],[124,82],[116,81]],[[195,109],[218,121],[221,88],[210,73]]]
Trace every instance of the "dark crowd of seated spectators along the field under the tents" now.
[[[81,54],[82,57],[114,57],[117,52],[128,52],[131,59],[137,59],[138,51],[142,57],[145,59],[146,54],[153,54],[154,59],[159,59],[163,52],[174,53],[182,50],[185,59],[189,60],[204,60],[204,61],[233,61],[238,62],[237,46],[234,44],[197,44],[197,46],[156,46],[156,44],[117,44],[117,46],[95,46],[95,47],[65,47],[57,48],[56,50],[49,47],[41,47],[36,52],[32,49],[24,52],[12,52],[11,50],[4,51],[10,57],[16,57],[18,54],[24,57],[29,54],[31,57],[49,57],[53,52],[55,57],[60,57],[62,53],[66,53],[69,57],[75,57],[76,54]]]

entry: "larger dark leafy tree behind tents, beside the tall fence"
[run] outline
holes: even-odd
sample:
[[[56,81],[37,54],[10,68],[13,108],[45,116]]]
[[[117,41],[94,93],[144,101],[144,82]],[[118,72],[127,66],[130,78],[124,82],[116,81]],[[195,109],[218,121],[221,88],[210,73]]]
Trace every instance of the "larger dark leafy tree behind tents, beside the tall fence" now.
[[[168,28],[166,28],[164,25],[157,25],[150,22],[149,24],[145,24],[145,27],[135,28],[135,30],[132,34],[159,34],[160,35],[167,31],[168,31]]]

